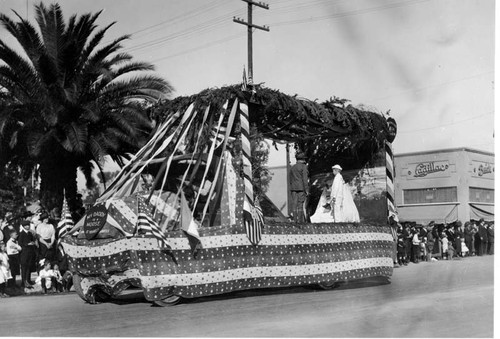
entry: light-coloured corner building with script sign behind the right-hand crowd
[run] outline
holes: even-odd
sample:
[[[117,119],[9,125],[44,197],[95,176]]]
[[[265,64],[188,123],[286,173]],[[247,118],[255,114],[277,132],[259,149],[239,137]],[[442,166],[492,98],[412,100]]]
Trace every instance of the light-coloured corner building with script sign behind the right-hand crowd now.
[[[470,148],[395,154],[400,221],[493,220],[495,158]]]

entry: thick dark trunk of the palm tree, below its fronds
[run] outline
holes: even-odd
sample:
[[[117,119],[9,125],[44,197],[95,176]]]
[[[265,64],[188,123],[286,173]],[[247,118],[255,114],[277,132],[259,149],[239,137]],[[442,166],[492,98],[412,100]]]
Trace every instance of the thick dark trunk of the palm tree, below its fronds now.
[[[69,209],[75,211],[77,167],[73,161],[66,159],[40,163],[40,202],[47,212],[55,207],[61,211],[63,192],[66,192]]]

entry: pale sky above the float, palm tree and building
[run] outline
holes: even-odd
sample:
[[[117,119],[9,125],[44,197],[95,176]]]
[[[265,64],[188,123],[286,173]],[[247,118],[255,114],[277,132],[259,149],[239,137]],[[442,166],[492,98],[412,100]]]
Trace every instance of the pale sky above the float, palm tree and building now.
[[[31,0],[0,12],[34,20]],[[50,4],[52,1],[44,1]],[[324,101],[336,96],[398,123],[395,154],[494,151],[494,0],[269,0],[254,7],[254,82]],[[103,10],[106,41],[156,66],[173,97],[241,82],[247,4],[239,0],[64,0],[66,18]],[[13,13],[12,16],[13,18]],[[6,31],[0,28],[0,36]],[[283,152],[269,166],[285,164]]]

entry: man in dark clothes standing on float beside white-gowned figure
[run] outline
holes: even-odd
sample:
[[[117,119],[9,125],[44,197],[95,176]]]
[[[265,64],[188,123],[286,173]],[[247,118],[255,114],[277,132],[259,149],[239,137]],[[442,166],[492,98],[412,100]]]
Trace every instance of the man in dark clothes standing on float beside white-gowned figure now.
[[[297,163],[290,169],[292,213],[295,222],[305,222],[304,202],[309,195],[309,171],[304,153],[297,153],[295,158],[297,159]]]

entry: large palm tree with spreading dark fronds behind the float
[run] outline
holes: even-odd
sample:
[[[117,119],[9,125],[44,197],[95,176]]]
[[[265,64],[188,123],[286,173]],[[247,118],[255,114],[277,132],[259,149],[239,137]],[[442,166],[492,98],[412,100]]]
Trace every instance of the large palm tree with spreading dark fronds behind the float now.
[[[77,168],[90,185],[105,155],[123,163],[137,150],[152,128],[145,107],[173,90],[151,64],[121,52],[128,35],[102,43],[114,22],[96,30],[100,13],[65,23],[58,4],[40,3],[38,29],[15,11],[17,22],[0,14],[22,47],[0,39],[0,168],[39,166],[48,209],[61,206],[63,190],[74,208]]]

